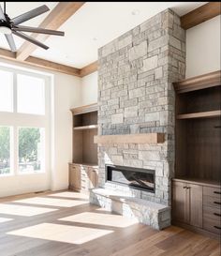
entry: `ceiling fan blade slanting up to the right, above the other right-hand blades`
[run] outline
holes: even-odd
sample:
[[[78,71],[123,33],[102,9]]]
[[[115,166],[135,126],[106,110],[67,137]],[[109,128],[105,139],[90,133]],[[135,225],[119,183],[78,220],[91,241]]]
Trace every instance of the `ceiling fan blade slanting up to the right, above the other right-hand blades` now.
[[[47,6],[41,6],[39,8],[34,8],[28,12],[25,12],[23,14],[21,14],[18,17],[15,17],[14,19],[12,19],[11,21],[15,24],[18,25],[20,23],[24,23],[28,20],[31,20],[32,18],[37,17],[38,15],[45,13],[46,11],[50,10]]]

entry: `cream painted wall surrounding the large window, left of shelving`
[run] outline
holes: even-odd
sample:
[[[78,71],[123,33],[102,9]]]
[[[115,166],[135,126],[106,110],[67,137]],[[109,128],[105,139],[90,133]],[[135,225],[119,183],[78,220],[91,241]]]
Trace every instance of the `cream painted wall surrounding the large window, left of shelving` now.
[[[14,68],[29,68],[51,75],[52,84],[52,134],[51,144],[51,178],[48,188],[44,173],[12,175],[0,177],[0,197],[22,194],[51,188],[65,189],[68,186],[68,162],[72,160],[72,115],[69,109],[81,106],[81,78],[49,72],[44,68],[33,68],[26,65],[0,59],[0,63],[13,65]],[[44,184],[44,185],[43,185]]]

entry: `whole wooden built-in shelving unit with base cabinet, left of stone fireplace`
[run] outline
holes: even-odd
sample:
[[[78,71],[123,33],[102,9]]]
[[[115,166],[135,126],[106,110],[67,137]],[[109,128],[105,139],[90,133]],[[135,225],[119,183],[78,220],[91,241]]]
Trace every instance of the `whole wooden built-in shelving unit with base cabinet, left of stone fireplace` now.
[[[88,192],[98,184],[97,104],[71,110],[73,114],[73,160],[69,163],[69,188]]]

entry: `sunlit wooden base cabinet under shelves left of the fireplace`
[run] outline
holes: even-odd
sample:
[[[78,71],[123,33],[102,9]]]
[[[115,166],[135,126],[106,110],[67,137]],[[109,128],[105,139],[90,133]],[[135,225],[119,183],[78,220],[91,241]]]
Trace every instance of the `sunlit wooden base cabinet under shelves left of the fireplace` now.
[[[98,186],[97,166],[86,164],[69,164],[69,188],[76,191],[88,191]]]

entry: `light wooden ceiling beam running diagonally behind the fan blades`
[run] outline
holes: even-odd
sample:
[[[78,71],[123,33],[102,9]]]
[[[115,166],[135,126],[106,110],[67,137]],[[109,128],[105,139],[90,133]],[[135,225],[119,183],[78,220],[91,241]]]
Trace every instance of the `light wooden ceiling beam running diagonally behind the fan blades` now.
[[[60,2],[55,8],[52,9],[50,14],[45,20],[40,23],[40,28],[57,30],[63,23],[66,22],[85,2]],[[32,38],[44,42],[50,35],[32,34]],[[35,50],[37,46],[33,43],[25,41],[16,54],[18,60],[25,60]]]

